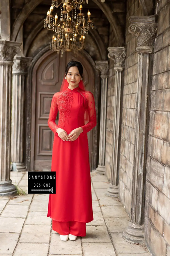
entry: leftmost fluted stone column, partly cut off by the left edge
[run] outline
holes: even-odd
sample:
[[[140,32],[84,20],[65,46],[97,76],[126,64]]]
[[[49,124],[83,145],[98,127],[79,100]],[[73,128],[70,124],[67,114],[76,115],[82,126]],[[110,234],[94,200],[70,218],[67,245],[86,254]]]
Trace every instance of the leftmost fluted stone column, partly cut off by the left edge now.
[[[11,83],[13,57],[21,43],[0,40],[0,196],[17,195],[10,179]]]

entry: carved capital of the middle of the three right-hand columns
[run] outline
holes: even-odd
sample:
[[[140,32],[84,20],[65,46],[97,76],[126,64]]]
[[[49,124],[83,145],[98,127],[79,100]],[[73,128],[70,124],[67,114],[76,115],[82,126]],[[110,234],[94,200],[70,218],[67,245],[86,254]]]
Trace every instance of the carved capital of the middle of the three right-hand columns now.
[[[114,60],[114,69],[122,71],[126,57],[125,47],[108,47],[108,57]]]

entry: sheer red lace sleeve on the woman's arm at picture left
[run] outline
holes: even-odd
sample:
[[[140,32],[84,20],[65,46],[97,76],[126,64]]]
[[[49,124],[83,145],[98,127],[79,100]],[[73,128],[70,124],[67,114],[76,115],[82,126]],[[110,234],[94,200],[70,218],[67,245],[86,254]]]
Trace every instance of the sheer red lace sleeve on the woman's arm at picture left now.
[[[56,97],[56,94],[54,94],[51,101],[51,107],[50,107],[49,119],[48,119],[48,126],[54,132],[54,135],[56,133],[57,128],[59,128],[58,125],[56,124],[57,113],[58,113],[57,97]]]

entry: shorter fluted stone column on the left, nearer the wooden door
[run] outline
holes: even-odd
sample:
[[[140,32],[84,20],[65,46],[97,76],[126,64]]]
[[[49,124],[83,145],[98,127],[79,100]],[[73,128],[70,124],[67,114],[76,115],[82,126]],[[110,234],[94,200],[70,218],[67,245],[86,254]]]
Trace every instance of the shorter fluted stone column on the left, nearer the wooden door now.
[[[16,56],[12,69],[11,162],[13,171],[26,171],[23,163],[24,84],[32,58]]]

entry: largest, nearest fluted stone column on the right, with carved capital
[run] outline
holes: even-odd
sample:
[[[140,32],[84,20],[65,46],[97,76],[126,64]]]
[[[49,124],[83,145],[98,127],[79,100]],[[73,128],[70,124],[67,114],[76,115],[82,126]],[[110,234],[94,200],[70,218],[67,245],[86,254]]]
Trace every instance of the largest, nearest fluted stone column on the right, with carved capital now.
[[[123,232],[123,237],[130,242],[142,243],[144,240],[144,190],[148,137],[148,101],[151,80],[150,62],[152,60],[152,56],[150,55],[153,53],[156,23],[154,15],[130,17],[129,21],[129,32],[134,34],[138,39],[136,51],[139,55],[131,219],[128,227]]]

